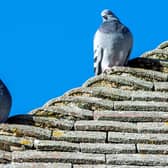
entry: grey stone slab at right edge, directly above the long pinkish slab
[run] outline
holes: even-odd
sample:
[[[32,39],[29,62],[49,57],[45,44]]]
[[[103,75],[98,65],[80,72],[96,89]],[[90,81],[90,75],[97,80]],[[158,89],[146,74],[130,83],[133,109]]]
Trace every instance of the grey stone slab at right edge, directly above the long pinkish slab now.
[[[168,103],[154,101],[115,101],[114,110],[168,111]]]

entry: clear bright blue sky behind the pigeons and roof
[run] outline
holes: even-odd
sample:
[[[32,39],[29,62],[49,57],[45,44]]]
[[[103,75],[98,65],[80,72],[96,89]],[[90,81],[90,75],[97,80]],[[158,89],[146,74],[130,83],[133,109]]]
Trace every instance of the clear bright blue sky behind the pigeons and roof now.
[[[0,77],[24,114],[93,76],[93,35],[111,9],[132,31],[131,58],[168,39],[168,0],[0,2]]]

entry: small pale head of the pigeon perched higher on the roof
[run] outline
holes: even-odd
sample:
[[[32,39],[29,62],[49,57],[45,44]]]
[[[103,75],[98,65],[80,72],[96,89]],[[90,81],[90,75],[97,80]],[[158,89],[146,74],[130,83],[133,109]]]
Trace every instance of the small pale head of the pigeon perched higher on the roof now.
[[[118,17],[109,9],[104,9],[101,12],[101,16],[103,18],[103,22],[112,21],[112,20],[119,20]]]

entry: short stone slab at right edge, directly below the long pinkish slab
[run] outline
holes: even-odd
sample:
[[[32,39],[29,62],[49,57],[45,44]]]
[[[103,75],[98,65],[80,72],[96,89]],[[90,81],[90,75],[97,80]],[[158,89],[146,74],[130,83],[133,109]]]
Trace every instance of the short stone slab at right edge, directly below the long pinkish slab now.
[[[137,127],[143,133],[168,133],[168,122],[139,122]]]

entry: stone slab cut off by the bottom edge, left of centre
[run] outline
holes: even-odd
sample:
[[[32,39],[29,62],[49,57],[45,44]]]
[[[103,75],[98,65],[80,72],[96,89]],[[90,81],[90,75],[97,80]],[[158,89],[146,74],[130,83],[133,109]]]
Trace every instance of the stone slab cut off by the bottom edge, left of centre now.
[[[10,168],[72,168],[71,163],[13,163]],[[1,167],[0,167],[1,168]],[[6,168],[6,167],[5,167]]]

